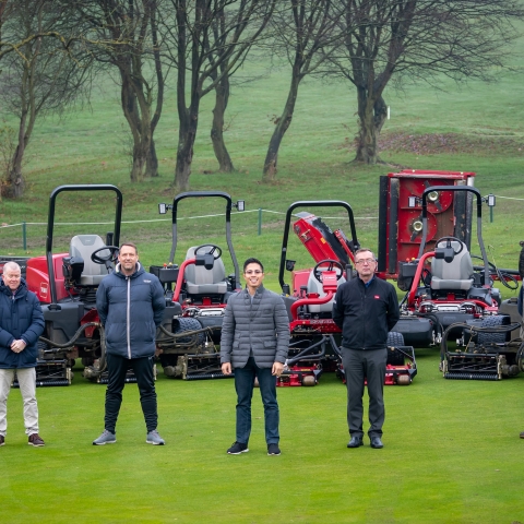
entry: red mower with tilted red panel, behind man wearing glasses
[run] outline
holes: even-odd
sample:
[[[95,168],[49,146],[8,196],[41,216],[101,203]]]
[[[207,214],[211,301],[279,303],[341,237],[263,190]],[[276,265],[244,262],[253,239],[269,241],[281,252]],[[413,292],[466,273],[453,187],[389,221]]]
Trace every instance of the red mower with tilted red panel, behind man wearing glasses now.
[[[297,207],[342,207],[347,212],[350,240],[341,229],[332,231],[309,212],[296,215],[298,221],[293,229],[315,260],[313,269],[295,270],[295,261],[287,259],[289,226]],[[315,385],[323,370],[336,371],[344,380],[341,330],[332,320],[333,298],[340,284],[355,277],[352,262],[358,248],[353,210],[347,202],[301,201],[288,207],[278,282],[288,311],[291,341],[277,385]],[[291,286],[284,282],[285,270],[291,272]],[[404,346],[400,333],[390,335],[384,383],[409,384],[416,374],[415,353],[413,347]]]

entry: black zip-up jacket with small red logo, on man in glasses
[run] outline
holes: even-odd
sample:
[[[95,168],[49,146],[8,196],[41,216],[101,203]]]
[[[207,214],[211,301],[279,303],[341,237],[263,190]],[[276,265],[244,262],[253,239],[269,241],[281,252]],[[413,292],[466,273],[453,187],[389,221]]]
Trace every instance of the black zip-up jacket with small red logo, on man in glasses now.
[[[348,349],[384,349],[388,333],[398,322],[395,288],[374,276],[366,287],[360,278],[342,284],[333,301],[333,320]]]

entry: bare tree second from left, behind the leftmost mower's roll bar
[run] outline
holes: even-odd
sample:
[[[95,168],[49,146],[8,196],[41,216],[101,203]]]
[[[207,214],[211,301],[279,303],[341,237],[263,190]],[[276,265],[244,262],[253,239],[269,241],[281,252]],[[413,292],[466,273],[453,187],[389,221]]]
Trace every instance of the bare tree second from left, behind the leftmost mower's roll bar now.
[[[158,176],[154,133],[164,105],[157,13],[162,0],[87,0],[75,2],[76,16],[88,32],[91,52],[116,68],[123,115],[131,131],[131,181]]]

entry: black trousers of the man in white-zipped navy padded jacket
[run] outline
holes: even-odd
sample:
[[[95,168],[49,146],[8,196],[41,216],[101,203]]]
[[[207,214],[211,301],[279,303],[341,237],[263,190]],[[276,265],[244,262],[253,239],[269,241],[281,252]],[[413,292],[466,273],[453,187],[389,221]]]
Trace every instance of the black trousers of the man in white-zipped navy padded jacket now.
[[[120,405],[122,404],[122,390],[126,385],[126,373],[132,369],[136,377],[140,391],[140,404],[144,413],[147,432],[156,429],[158,415],[156,410],[155,377],[153,372],[153,357],[128,358],[107,354],[108,383],[106,390],[106,417],[107,431],[115,433]]]

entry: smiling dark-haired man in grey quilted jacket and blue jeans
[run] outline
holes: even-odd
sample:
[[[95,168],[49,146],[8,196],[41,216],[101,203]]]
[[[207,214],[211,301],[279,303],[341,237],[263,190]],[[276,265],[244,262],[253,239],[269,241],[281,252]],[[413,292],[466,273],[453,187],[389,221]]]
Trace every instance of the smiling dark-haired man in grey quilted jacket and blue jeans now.
[[[221,338],[222,372],[235,370],[237,440],[230,455],[247,453],[251,433],[251,398],[257,378],[264,404],[269,455],[279,455],[276,378],[284,369],[289,344],[289,320],[284,300],[265,289],[264,266],[257,259],[243,263],[246,288],[233,295],[226,307]]]

